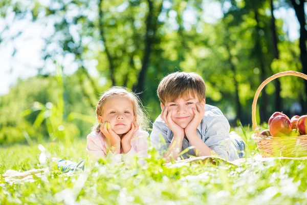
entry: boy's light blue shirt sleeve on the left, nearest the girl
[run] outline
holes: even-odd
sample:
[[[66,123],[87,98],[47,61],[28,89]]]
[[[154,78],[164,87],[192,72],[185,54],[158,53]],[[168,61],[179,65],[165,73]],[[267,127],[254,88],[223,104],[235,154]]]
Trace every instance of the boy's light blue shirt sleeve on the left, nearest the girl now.
[[[167,125],[163,121],[155,121],[152,125],[152,131],[150,133],[151,145],[156,148],[160,154],[165,152],[170,145],[170,141],[167,138]]]

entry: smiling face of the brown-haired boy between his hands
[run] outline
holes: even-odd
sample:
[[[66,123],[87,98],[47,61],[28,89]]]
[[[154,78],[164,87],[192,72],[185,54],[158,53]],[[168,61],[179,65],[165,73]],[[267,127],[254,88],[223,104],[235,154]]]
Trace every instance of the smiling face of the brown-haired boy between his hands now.
[[[167,106],[168,111],[173,110],[171,119],[182,129],[185,129],[195,115],[192,108],[196,108],[198,102],[205,104],[205,99],[199,101],[197,97],[189,94],[187,98],[178,98],[173,102],[167,102],[165,105],[161,103],[161,108]]]

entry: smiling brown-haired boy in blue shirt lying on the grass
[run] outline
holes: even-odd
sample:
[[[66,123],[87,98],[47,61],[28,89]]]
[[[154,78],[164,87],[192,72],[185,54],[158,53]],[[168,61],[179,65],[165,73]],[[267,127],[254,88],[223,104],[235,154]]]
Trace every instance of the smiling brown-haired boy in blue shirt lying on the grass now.
[[[190,146],[193,149],[183,158],[212,154],[231,161],[239,158],[229,138],[227,118],[220,109],[206,105],[206,85],[199,74],[176,72],[165,76],[158,96],[162,112],[153,123],[150,141],[159,152],[165,151],[167,161],[177,160]]]

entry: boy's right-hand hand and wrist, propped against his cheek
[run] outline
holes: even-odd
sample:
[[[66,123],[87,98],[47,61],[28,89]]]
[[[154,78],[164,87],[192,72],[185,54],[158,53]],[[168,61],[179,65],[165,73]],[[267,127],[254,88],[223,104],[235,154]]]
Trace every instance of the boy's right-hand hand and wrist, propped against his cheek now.
[[[202,103],[196,103],[196,108],[192,108],[192,111],[194,112],[194,118],[190,121],[189,125],[184,129],[185,134],[187,135],[187,138],[189,136],[195,136],[196,129],[201,124],[201,121],[205,114],[205,105]]]

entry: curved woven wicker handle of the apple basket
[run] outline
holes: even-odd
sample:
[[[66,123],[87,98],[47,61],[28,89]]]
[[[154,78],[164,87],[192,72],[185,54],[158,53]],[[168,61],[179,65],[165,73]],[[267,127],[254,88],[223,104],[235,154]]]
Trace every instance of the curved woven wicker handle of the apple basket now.
[[[281,77],[281,76],[287,76],[287,75],[294,75],[294,76],[298,76],[301,78],[304,78],[305,80],[307,80],[307,75],[300,73],[300,72],[296,72],[296,71],[284,71],[281,73],[276,73],[275,75],[272,75],[271,77],[267,78],[265,81],[263,81],[261,83],[261,85],[258,87],[255,96],[254,96],[254,100],[253,100],[253,105],[252,105],[252,123],[253,123],[253,131],[255,133],[256,136],[259,136],[259,131],[257,130],[258,125],[257,125],[257,121],[256,121],[256,106],[257,106],[257,100],[259,97],[259,94],[261,92],[261,90],[268,84],[270,83],[270,81]]]

